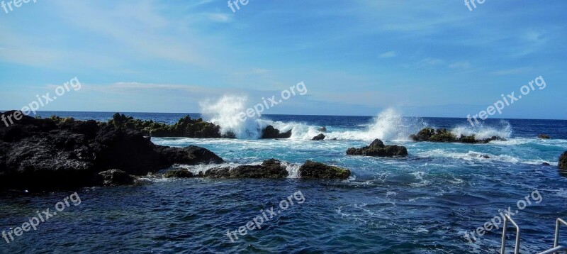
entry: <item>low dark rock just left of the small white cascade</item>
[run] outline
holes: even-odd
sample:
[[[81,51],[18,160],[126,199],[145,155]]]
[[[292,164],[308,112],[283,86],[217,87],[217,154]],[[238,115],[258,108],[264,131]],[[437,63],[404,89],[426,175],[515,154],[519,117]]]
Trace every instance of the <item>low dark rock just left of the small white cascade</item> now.
[[[213,168],[205,172],[204,177],[211,178],[269,178],[278,179],[288,177],[286,167],[279,160],[264,160],[262,165],[242,165],[231,169],[230,167]]]

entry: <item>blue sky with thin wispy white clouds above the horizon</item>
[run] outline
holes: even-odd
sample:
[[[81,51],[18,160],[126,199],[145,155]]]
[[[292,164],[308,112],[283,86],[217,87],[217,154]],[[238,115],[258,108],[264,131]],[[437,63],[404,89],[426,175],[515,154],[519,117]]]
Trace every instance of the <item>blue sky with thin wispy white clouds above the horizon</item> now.
[[[6,0],[4,0],[6,1]],[[477,0],[478,1],[478,0]],[[7,4],[8,1],[6,1]],[[13,4],[13,3],[12,3]],[[0,110],[199,113],[304,82],[264,114],[567,119],[567,1],[31,0],[0,9]],[[7,13],[6,13],[7,12]],[[533,84],[533,83],[532,83]]]

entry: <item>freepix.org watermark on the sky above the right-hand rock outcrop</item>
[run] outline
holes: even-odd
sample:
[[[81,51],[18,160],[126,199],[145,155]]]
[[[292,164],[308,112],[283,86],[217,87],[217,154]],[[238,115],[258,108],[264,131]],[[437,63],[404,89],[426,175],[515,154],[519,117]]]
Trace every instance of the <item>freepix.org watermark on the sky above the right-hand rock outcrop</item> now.
[[[528,95],[530,92],[536,90],[536,86],[539,90],[543,90],[547,87],[544,77],[541,77],[541,75],[536,79],[528,82],[528,84],[524,84],[522,87],[520,87],[520,93],[523,96]],[[514,104],[515,101],[519,101],[520,99],[522,99],[522,95],[516,96],[515,92],[507,94],[506,96],[504,96],[504,94],[500,94],[500,96],[502,96],[502,99],[496,101],[494,103],[494,106],[488,106],[485,111],[480,111],[474,116],[468,114],[466,116],[466,119],[469,123],[471,123],[471,126],[475,126],[475,124],[480,123],[477,118],[481,118],[481,120],[484,121],[488,118],[488,116],[492,116],[496,114],[496,112],[498,112],[498,114],[502,114],[502,110],[505,108],[505,106],[510,106]]]

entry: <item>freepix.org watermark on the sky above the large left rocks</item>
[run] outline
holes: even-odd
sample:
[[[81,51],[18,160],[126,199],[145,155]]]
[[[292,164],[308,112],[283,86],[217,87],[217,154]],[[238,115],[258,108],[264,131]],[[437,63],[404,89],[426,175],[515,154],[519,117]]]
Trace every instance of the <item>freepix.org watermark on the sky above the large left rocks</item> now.
[[[20,121],[23,115],[27,116],[30,113],[33,113],[35,115],[35,112],[40,109],[40,106],[50,104],[50,102],[57,99],[57,96],[63,96],[65,93],[71,91],[71,88],[74,91],[81,89],[81,82],[79,82],[79,79],[77,79],[77,77],[74,77],[69,82],[65,82],[64,84],[55,87],[55,96],[50,96],[50,93],[46,93],[42,96],[35,95],[35,101],[30,102],[28,106],[23,106],[21,111],[16,111],[16,113],[14,114],[11,114],[9,116],[2,115],[0,120],[4,122],[6,127],[8,127],[13,124],[13,121]]]

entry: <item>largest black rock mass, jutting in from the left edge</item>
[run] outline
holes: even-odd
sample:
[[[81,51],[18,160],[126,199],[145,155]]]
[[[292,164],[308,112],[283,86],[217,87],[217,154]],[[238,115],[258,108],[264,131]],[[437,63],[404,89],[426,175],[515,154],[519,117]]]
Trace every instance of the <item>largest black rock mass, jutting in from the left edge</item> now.
[[[0,189],[88,187],[100,184],[99,172],[106,170],[146,175],[176,163],[220,162],[205,148],[167,148],[135,129],[96,121],[23,116],[8,127],[0,124]]]

